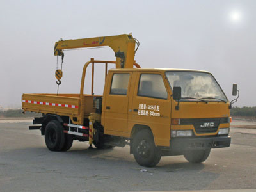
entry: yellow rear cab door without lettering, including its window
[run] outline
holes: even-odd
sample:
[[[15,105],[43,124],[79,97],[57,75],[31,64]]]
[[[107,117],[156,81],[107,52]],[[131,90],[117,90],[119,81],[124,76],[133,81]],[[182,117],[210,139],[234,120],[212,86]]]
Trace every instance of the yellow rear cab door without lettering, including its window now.
[[[104,134],[125,136],[127,130],[127,111],[129,87],[132,72],[111,72],[105,93]]]

